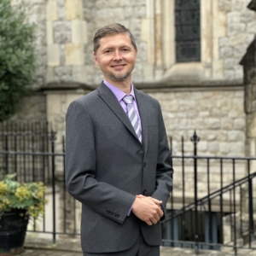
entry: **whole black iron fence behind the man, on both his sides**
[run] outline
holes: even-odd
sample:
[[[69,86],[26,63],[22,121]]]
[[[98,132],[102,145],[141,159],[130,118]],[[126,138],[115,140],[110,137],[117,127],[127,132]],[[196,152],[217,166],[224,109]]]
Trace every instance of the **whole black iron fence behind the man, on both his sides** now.
[[[0,179],[17,172],[21,182],[42,180],[48,185],[49,204],[41,222],[29,231],[52,236],[79,236],[81,205],[65,187],[65,141],[54,131],[2,131]],[[30,129],[32,130],[32,129]],[[0,131],[1,132],[1,131]],[[37,137],[37,138],[36,138]],[[46,142],[47,141],[47,142]],[[199,156],[199,137],[191,137],[194,154],[172,155],[174,188],[162,223],[164,246],[220,250],[256,249],[254,241],[253,188],[256,158]],[[172,152],[172,137],[171,152]],[[25,146],[26,145],[26,146]],[[56,151],[55,148],[61,148]]]

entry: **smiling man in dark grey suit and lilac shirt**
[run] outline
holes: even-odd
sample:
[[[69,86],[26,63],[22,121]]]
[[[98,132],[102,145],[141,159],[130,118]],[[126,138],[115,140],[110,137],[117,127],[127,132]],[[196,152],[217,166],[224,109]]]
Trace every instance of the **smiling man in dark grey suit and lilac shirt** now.
[[[67,111],[67,189],[82,203],[84,256],[157,256],[173,172],[160,104],[131,83],[137,46],[125,26],[96,32],[94,59],[104,81]]]

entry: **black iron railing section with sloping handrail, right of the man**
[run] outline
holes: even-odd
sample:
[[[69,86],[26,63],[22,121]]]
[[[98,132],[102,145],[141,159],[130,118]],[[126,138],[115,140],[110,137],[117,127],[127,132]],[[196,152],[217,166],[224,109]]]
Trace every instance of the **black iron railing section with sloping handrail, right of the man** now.
[[[193,155],[184,155],[183,138],[182,154],[172,155],[176,172],[170,210],[163,222],[163,244],[194,247],[196,253],[202,248],[230,247],[235,254],[239,248],[256,249],[253,247],[256,172],[251,172],[256,167],[256,158],[198,156],[199,140],[196,133],[191,137]]]

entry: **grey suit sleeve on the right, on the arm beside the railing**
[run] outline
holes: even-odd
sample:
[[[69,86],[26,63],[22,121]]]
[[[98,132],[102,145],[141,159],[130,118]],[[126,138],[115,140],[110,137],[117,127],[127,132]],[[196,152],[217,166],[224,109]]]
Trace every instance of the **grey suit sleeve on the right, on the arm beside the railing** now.
[[[159,148],[156,166],[156,188],[151,196],[163,201],[162,208],[165,214],[161,220],[165,218],[166,203],[170,196],[170,192],[172,191],[172,173],[173,169],[170,148],[168,146],[166,128],[159,104]]]

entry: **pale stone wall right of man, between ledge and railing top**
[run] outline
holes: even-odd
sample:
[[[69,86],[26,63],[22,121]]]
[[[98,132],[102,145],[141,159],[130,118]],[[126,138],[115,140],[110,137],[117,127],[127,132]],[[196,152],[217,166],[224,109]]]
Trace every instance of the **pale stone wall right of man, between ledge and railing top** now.
[[[173,154],[181,153],[181,137],[189,142],[196,130],[201,137],[198,154],[212,155],[221,151],[224,156],[244,155],[246,121],[242,89],[189,92],[166,90],[149,92],[149,95],[160,102],[167,135],[173,139]],[[185,148],[188,153],[192,153],[192,147],[190,150]]]

